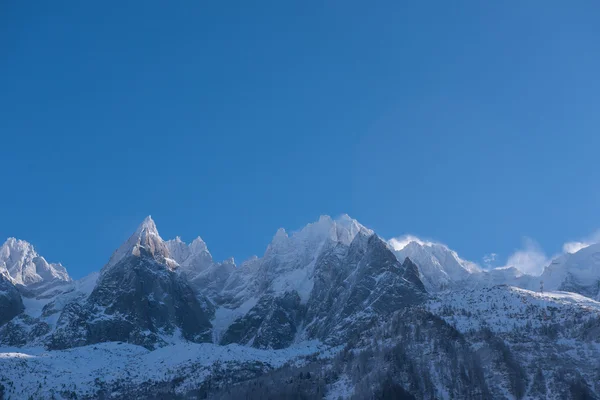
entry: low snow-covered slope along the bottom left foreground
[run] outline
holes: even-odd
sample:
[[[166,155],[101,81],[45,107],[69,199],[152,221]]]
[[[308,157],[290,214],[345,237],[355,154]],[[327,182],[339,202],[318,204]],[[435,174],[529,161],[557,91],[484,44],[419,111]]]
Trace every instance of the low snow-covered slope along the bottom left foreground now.
[[[7,398],[174,398],[198,389],[221,369],[247,378],[281,367],[303,363],[323,346],[307,342],[283,350],[259,350],[240,345],[186,343],[149,351],[127,343],[111,342],[68,350],[0,348],[0,382]],[[219,367],[222,366],[222,367]],[[173,384],[173,382],[176,382]],[[115,387],[120,389],[114,391]]]

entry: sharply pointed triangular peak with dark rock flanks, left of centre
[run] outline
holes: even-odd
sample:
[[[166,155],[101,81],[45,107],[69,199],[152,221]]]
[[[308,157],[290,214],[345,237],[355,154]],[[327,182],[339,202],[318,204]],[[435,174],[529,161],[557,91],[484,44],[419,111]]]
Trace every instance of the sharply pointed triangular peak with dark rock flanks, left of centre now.
[[[176,270],[154,221],[147,218],[103,268],[83,304],[62,312],[50,347],[107,341],[153,347],[178,331],[186,340],[211,340],[211,303]]]

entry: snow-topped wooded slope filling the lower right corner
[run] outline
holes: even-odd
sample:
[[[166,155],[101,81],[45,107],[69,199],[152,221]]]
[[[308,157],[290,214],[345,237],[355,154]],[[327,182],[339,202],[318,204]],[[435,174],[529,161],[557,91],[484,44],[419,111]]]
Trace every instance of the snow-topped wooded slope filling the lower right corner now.
[[[476,350],[492,398],[598,398],[599,302],[496,286],[444,293],[428,308]]]

